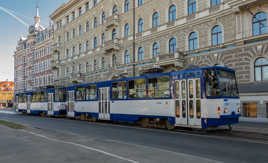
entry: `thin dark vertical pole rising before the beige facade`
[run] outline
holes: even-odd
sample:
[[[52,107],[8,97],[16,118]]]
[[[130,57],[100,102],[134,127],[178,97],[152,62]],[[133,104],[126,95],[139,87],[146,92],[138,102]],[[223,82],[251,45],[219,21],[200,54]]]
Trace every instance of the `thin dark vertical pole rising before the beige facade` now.
[[[133,0],[133,77],[136,76],[136,0]]]

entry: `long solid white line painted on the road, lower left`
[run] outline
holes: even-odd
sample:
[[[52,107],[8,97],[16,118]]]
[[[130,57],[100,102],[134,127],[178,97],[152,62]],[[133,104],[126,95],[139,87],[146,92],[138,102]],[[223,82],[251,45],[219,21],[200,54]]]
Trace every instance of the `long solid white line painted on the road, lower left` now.
[[[114,158],[119,159],[119,160],[131,162],[131,163],[139,163],[138,161],[131,160],[131,159],[128,159],[128,158],[125,158],[125,157],[122,157],[122,156],[119,156],[119,155],[116,155],[116,154],[112,154],[112,153],[109,153],[109,152],[106,152],[106,151],[103,151],[103,150],[100,150],[100,149],[97,149],[97,148],[93,148],[93,147],[89,147],[89,146],[86,146],[86,145],[77,144],[77,143],[73,143],[73,142],[58,140],[58,139],[54,139],[54,138],[49,138],[49,137],[47,137],[45,135],[37,134],[37,133],[31,132],[31,131],[26,131],[26,130],[23,130],[23,131],[28,133],[28,134],[31,134],[31,135],[34,135],[34,136],[37,136],[37,137],[41,137],[41,138],[44,138],[44,139],[47,139],[47,140],[50,140],[50,141],[77,146],[77,147],[80,147],[80,148],[84,148],[84,149],[87,149],[87,150],[102,153],[104,155],[114,157]]]

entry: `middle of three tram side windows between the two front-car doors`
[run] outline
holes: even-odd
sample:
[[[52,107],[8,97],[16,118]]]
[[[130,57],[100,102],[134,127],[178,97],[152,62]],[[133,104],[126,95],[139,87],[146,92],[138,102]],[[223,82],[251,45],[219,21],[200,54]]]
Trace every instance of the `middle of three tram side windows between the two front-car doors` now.
[[[145,79],[130,80],[128,82],[128,97],[146,98],[146,82]]]

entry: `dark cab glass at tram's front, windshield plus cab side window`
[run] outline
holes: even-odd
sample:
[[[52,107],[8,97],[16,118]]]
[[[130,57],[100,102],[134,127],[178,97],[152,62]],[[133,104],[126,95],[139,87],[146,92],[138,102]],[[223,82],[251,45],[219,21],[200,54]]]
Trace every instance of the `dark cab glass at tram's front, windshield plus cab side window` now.
[[[235,72],[226,70],[206,70],[206,95],[238,97]]]

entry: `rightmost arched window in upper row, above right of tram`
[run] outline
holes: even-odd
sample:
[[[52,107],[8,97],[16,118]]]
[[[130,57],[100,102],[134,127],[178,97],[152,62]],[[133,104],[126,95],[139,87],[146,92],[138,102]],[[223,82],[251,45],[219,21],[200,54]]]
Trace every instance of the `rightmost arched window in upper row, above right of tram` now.
[[[264,12],[257,13],[253,17],[252,26],[254,36],[267,33],[267,15]]]

